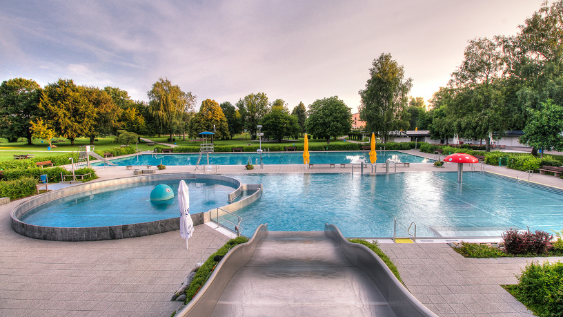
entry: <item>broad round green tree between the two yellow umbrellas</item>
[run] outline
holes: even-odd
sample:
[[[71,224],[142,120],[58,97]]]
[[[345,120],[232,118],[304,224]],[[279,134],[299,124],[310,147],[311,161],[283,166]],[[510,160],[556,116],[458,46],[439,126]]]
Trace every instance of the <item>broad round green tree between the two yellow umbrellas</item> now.
[[[315,137],[326,138],[345,135],[352,130],[351,108],[338,99],[338,96],[317,99],[309,105],[308,118],[305,128]]]

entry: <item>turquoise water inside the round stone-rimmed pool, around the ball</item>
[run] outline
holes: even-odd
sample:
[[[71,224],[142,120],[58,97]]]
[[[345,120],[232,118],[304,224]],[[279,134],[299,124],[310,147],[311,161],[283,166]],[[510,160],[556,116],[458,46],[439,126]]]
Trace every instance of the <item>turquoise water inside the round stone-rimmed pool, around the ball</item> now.
[[[106,227],[134,224],[179,217],[178,185],[180,180],[161,180],[121,186],[108,186],[38,206],[20,220],[46,227]],[[204,183],[185,180],[190,190],[190,212],[201,213],[227,204],[228,184],[208,180]],[[151,202],[150,191],[166,184],[174,198],[166,202]]]

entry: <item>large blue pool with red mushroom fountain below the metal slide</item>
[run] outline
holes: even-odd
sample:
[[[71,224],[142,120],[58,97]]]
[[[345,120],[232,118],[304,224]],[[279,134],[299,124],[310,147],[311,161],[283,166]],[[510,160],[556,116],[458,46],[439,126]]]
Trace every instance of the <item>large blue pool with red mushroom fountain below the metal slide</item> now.
[[[250,232],[266,222],[271,231],[322,231],[328,222],[347,237],[393,237],[395,217],[397,236],[407,236],[411,222],[417,224],[419,237],[498,237],[510,228],[563,229],[562,191],[516,184],[491,173],[464,173],[461,185],[451,172],[232,177],[264,184],[261,198],[237,211]]]

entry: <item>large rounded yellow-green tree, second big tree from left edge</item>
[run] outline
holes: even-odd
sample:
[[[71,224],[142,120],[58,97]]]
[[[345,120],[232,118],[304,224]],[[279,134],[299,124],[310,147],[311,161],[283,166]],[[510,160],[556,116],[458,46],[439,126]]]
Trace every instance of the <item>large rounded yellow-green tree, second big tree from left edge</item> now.
[[[94,133],[95,107],[72,79],[59,79],[45,86],[39,108],[44,111],[46,124],[54,128],[57,135],[70,140],[72,145],[77,137]]]

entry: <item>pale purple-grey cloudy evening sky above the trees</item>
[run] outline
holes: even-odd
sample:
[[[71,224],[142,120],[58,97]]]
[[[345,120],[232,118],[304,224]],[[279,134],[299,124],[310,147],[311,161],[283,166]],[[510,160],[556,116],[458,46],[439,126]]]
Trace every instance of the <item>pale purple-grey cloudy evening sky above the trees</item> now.
[[[166,77],[196,110],[266,93],[290,110],[338,96],[354,113],[382,53],[427,102],[468,40],[516,35],[542,1],[0,0],[0,81],[72,79],[148,101]]]

